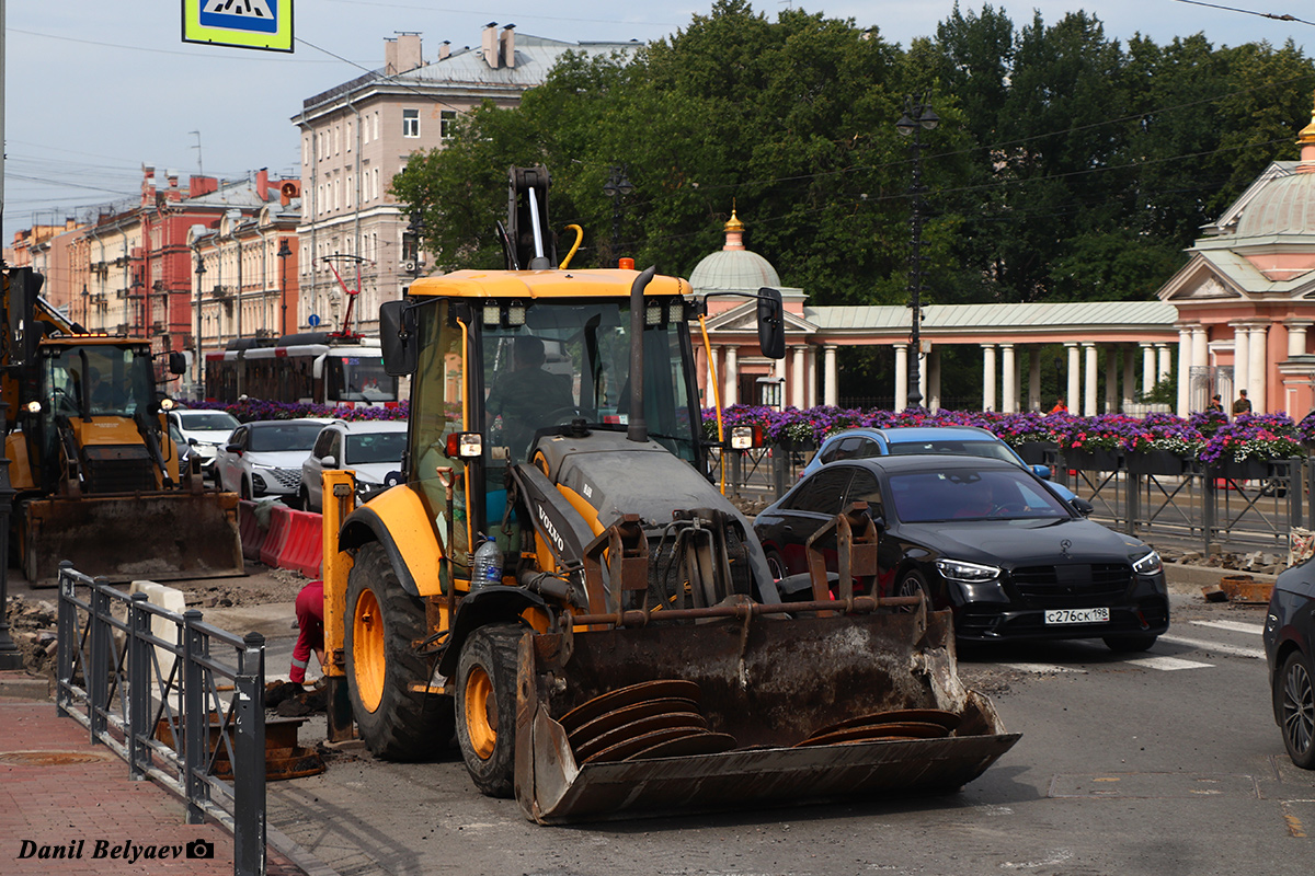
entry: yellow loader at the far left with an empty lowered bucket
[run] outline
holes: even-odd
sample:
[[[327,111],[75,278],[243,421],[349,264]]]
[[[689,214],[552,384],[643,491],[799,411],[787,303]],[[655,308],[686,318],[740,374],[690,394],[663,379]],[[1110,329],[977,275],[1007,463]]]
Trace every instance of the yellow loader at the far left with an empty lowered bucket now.
[[[11,536],[28,580],[54,584],[64,559],[110,580],[243,574],[238,496],[180,468],[150,344],[85,332],[41,285],[9,268],[0,298]],[[163,370],[184,368],[170,353]]]

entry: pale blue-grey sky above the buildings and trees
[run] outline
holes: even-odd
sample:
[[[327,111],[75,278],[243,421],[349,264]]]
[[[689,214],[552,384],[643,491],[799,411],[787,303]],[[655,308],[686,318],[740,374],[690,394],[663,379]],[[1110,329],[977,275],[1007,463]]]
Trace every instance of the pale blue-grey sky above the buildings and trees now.
[[[1260,4],[1278,5],[1260,5]],[[181,42],[181,3],[0,0],[4,11],[5,243],[33,225],[63,223],[87,208],[135,197],[142,165],[238,179],[259,168],[300,175],[291,118],[301,101],[383,66],[384,39],[418,32],[427,60],[448,39],[476,46],[485,24],[564,41],[650,42],[707,14],[711,0],[295,0],[295,51],[264,53]],[[464,5],[466,8],[459,8]],[[853,18],[888,42],[935,35],[953,0],[752,0],[775,18],[786,7]],[[978,0],[961,8],[981,11]],[[1141,33],[1159,43],[1205,33],[1216,47],[1291,38],[1315,53],[1308,0],[1220,0],[1279,21],[1182,0],[995,0],[1022,26],[1082,9],[1109,38]]]

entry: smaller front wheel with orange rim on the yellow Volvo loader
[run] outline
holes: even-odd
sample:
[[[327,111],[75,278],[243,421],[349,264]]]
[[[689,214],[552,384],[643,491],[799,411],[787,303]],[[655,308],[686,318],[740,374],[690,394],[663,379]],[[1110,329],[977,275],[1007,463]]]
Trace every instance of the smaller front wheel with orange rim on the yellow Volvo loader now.
[[[489,797],[514,789],[517,647],[525,632],[519,624],[481,626],[456,663],[456,743],[475,787]]]

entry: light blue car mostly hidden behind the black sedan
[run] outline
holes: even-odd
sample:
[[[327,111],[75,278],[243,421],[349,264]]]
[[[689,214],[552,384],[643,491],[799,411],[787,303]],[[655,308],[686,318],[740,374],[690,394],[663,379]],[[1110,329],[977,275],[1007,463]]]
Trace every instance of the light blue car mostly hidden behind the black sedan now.
[[[913,456],[920,453],[948,453],[951,456],[980,456],[986,460],[1003,460],[1027,469],[1045,481],[1045,485],[1064,502],[1077,499],[1068,487],[1049,479],[1051,470],[1044,465],[1027,465],[1014,448],[999,440],[993,432],[976,426],[906,426],[899,428],[856,428],[836,432],[822,441],[817,456],[800,473],[805,478],[827,462],[836,460],[865,460],[873,456]],[[1085,502],[1081,503],[1086,506]],[[1081,508],[1086,512],[1088,508]]]

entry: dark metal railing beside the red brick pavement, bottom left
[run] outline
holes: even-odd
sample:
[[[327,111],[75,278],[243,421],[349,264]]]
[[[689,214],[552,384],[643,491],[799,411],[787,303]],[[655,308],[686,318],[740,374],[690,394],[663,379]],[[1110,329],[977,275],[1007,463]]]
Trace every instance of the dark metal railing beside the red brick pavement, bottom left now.
[[[59,570],[55,705],[205,817],[233,831],[235,876],[266,872],[264,637],[212,626]]]

